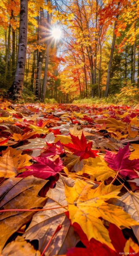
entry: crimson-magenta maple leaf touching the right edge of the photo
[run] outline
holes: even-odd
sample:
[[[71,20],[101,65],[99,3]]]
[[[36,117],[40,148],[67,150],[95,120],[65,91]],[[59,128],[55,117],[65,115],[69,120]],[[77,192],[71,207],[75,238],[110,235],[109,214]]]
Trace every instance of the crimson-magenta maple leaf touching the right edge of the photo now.
[[[117,154],[106,150],[104,159],[107,161],[108,166],[114,171],[119,171],[123,178],[139,178],[136,172],[139,171],[139,159],[130,160],[128,159],[129,156],[130,149],[129,144],[127,144],[123,149],[119,149]]]

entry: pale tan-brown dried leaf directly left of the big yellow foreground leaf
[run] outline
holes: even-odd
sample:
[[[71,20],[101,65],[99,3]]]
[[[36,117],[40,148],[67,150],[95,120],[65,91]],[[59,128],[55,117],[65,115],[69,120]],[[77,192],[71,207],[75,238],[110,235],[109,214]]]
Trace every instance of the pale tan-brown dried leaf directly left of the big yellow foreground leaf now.
[[[71,180],[71,178],[64,178],[64,181],[68,185],[72,185]],[[67,205],[64,181],[63,178],[60,177],[56,183],[56,187],[47,192],[48,200],[44,209]],[[39,241],[39,250],[43,251],[53,233],[56,231],[56,228],[61,224],[62,228],[56,233],[45,255],[53,256],[66,253],[68,248],[75,246],[77,242],[79,242],[79,237],[70,226],[70,221],[67,216],[65,216],[65,211],[67,210],[63,207],[43,211],[43,213],[36,213],[23,236],[30,241],[37,239]]]

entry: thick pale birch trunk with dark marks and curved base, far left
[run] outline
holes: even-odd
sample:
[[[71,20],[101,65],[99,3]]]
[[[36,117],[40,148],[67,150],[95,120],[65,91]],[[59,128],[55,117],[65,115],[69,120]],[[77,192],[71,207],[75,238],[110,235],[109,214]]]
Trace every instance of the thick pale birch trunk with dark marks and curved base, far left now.
[[[28,0],[20,1],[20,27],[18,58],[14,82],[8,91],[8,96],[18,100],[23,91],[23,80],[25,73],[25,60],[27,49],[27,26],[28,26]]]

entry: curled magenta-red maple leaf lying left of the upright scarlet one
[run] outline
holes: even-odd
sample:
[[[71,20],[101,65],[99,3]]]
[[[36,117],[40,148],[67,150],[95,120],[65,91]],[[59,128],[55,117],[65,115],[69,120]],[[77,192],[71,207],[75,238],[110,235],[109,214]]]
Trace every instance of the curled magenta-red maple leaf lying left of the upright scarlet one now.
[[[33,175],[37,178],[47,179],[50,176],[56,175],[56,173],[63,169],[63,162],[60,158],[57,158],[55,161],[46,157],[33,157],[33,159],[37,161],[37,163],[31,166],[25,166],[25,168],[30,171],[24,171],[18,175],[18,178]]]

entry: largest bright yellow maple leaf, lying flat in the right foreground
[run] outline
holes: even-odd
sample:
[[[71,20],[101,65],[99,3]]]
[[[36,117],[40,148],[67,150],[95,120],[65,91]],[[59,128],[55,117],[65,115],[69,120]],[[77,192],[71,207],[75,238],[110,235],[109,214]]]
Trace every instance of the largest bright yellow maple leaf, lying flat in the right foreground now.
[[[65,195],[72,223],[78,223],[89,240],[94,238],[107,244],[111,249],[114,247],[111,244],[109,232],[100,217],[114,223],[118,228],[139,225],[121,207],[106,202],[110,198],[118,198],[120,188],[121,186],[111,184],[105,186],[102,183],[92,189],[92,185],[78,179],[74,187],[68,187],[65,184]]]

